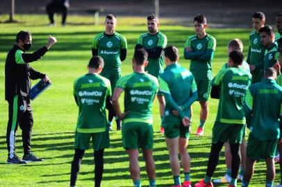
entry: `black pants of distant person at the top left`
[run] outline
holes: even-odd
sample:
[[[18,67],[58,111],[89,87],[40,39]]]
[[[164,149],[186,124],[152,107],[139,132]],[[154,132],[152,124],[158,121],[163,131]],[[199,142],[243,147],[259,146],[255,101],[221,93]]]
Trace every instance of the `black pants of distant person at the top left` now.
[[[49,3],[46,6],[46,11],[50,20],[50,24],[54,23],[54,14],[56,12],[62,12],[62,24],[65,24],[67,19],[67,7],[64,4]]]

